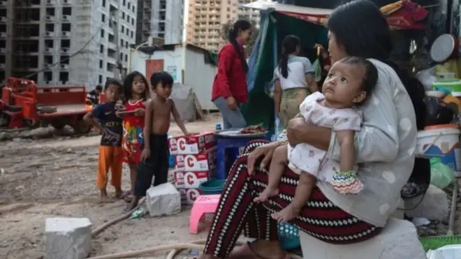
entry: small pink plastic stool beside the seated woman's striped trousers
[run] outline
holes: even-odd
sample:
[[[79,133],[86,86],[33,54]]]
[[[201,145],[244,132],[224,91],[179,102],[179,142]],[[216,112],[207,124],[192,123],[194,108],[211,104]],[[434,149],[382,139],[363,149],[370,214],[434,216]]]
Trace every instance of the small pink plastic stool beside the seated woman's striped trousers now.
[[[189,217],[189,232],[198,234],[198,223],[205,213],[214,213],[218,207],[221,195],[200,195],[193,202],[191,216]]]

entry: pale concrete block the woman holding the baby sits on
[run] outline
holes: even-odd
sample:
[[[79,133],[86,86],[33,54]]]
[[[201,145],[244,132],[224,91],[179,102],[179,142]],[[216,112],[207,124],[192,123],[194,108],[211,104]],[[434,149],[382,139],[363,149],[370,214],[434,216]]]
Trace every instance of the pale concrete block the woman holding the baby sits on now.
[[[300,241],[304,258],[426,259],[415,226],[400,219],[389,219],[379,235],[357,244],[328,244],[302,231]]]

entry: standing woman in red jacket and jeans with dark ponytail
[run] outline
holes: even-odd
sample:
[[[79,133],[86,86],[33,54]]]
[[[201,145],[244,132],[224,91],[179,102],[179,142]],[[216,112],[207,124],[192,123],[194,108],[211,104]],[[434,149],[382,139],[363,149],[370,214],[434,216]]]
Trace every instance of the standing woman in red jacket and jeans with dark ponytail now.
[[[251,40],[251,24],[247,20],[238,20],[229,31],[228,38],[229,43],[218,54],[212,101],[223,116],[224,128],[244,128],[247,122],[238,106],[248,100],[248,64],[243,46]]]

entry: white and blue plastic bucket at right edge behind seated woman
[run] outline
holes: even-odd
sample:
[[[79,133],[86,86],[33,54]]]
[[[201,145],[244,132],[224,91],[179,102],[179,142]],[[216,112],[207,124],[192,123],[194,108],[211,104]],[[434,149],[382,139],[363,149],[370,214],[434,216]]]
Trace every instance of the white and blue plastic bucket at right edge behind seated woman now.
[[[454,171],[461,171],[460,130],[432,128],[418,132],[416,154],[428,158],[438,156]]]

